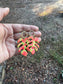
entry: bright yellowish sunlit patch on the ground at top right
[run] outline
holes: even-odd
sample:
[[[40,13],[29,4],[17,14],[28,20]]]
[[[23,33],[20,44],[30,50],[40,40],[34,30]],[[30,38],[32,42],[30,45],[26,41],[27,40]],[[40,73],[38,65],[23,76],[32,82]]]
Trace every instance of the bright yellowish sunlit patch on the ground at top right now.
[[[38,7],[39,8],[39,7]],[[56,9],[56,12],[63,13],[63,0],[58,0],[54,4],[48,5],[45,8],[43,7],[44,11],[40,11],[38,13],[38,16],[46,16],[54,12]]]

